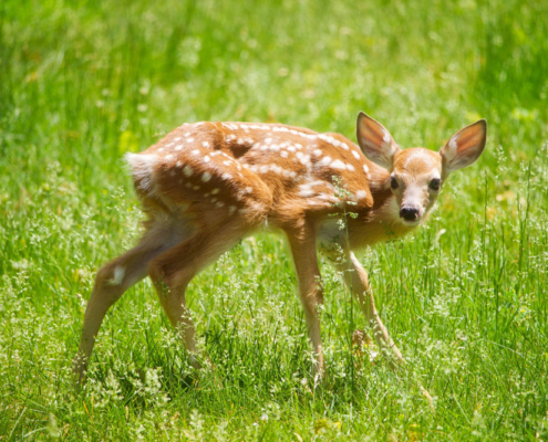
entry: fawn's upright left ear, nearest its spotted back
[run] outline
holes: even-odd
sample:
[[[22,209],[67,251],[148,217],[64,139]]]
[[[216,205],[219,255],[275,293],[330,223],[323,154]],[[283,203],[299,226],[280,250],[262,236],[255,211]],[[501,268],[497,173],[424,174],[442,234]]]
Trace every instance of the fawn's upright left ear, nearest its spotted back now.
[[[356,138],[362,152],[371,161],[392,170],[394,155],[400,151],[390,131],[363,112],[358,114]]]

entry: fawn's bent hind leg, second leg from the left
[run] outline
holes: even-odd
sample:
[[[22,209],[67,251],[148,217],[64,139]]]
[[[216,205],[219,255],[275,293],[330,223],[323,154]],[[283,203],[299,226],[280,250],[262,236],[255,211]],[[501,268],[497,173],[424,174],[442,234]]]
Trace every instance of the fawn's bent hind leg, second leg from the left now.
[[[223,219],[209,213],[211,219]],[[159,301],[172,325],[180,333],[192,365],[200,368],[197,360],[195,328],[186,304],[185,292],[192,278],[207,264],[231,249],[246,233],[241,219],[232,218],[216,227],[201,227],[183,243],[163,253],[148,265]]]

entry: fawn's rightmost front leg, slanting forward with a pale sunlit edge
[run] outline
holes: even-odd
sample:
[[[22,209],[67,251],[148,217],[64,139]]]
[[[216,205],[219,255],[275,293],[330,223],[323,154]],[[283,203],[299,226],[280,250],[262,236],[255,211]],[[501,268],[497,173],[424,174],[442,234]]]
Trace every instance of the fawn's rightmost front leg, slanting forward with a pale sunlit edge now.
[[[348,257],[349,262],[341,262],[340,259],[335,259],[333,260],[333,263],[337,270],[342,273],[344,283],[352,292],[360,309],[365,315],[379,348],[381,350],[387,349],[397,364],[404,364],[405,359],[390,337],[389,330],[376,312],[375,299],[365,270],[352,252],[344,253],[344,255]]]

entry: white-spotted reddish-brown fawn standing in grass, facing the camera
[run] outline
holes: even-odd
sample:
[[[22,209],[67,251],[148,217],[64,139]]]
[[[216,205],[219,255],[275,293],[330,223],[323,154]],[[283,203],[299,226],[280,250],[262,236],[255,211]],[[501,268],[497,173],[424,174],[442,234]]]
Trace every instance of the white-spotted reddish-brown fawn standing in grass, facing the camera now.
[[[345,254],[345,263],[333,259],[333,264],[353,291],[379,347],[403,362],[352,251],[420,225],[449,173],[482,155],[487,126],[480,119],[461,129],[440,152],[402,150],[364,113],[356,126],[359,147],[339,134],[281,124],[185,124],[147,150],[127,154],[148,220],[138,244],[97,272],[74,358],[75,380],[83,380],[107,309],[146,275],[198,368],[185,290],[207,264],[267,225],[283,231],[289,241],[316,355],[314,377],[324,373],[317,246],[328,255],[341,250]],[[348,217],[342,232],[338,219],[349,212],[354,215]]]

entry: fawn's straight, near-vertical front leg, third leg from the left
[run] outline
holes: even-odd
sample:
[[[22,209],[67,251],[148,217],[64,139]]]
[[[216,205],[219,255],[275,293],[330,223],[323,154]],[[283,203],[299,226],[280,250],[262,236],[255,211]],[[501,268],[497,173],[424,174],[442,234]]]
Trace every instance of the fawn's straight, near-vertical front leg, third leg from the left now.
[[[297,278],[299,281],[299,295],[302,307],[304,308],[308,336],[314,352],[316,360],[312,375],[314,380],[321,380],[325,375],[325,365],[321,346],[318,307],[323,304],[323,291],[316,250],[316,232],[311,227],[304,225],[301,229],[287,230],[286,233],[289,239]]]

